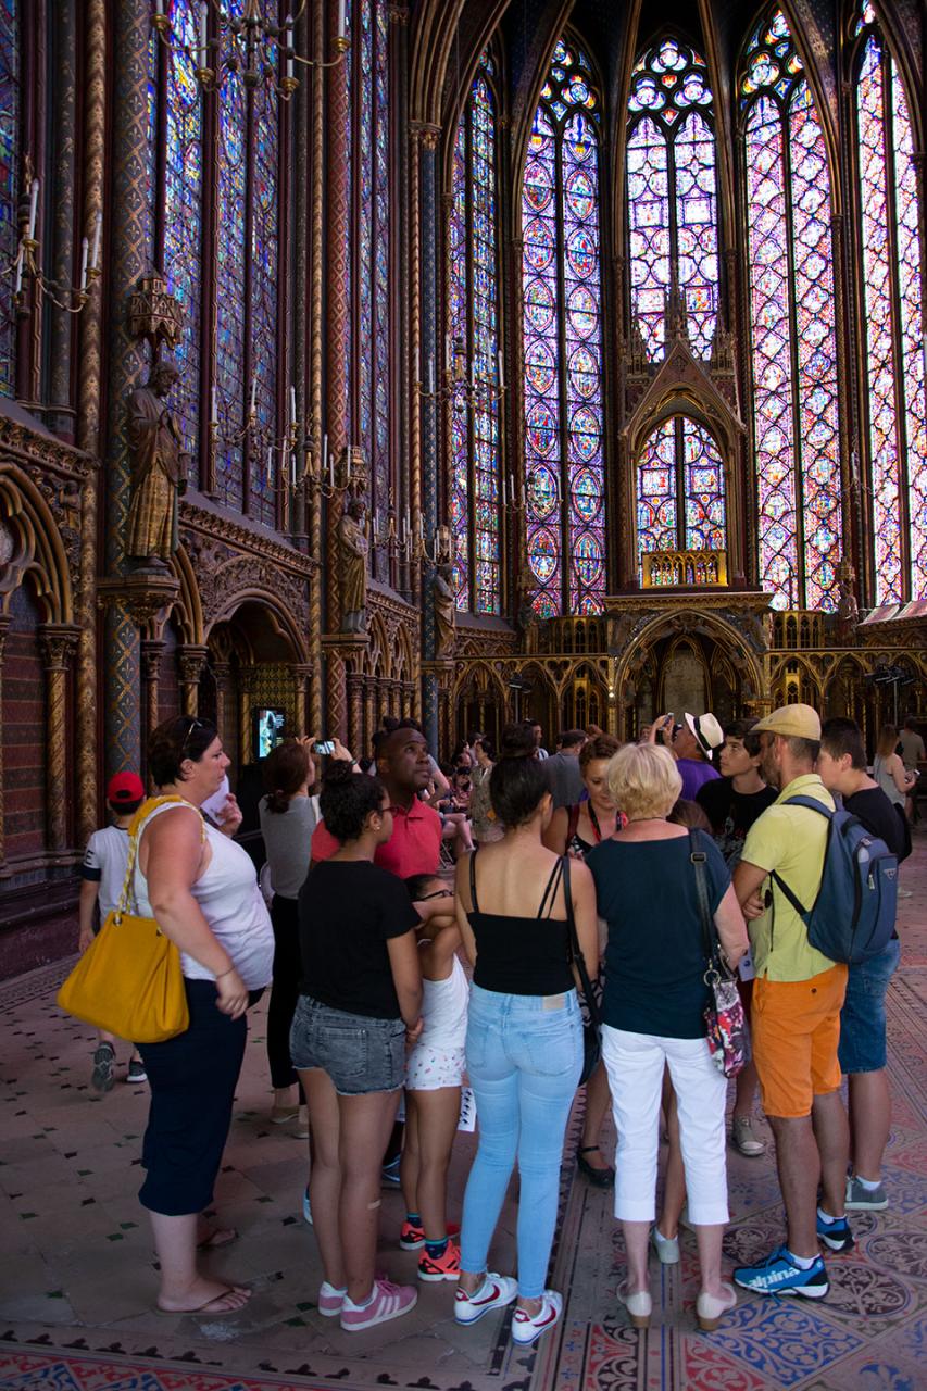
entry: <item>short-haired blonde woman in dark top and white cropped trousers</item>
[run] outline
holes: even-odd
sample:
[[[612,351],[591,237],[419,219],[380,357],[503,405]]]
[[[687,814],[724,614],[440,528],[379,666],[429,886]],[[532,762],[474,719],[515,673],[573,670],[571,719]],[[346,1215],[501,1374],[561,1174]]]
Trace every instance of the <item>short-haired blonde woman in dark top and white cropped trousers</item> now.
[[[626,744],[608,766],[608,786],[628,825],[589,853],[599,912],[608,922],[603,1057],[608,1071],[618,1157],[615,1217],[624,1225],[628,1281],[621,1291],[631,1321],[646,1328],[650,1224],[656,1214],[660,1097],[668,1064],[679,1109],[689,1216],[699,1242],[699,1323],[713,1328],[736,1296],[721,1283],[721,1238],[728,1221],[727,1082],[706,1038],[706,983],[699,887],[685,826],[667,815],[682,780],[672,755]],[[731,878],[710,836],[693,832],[704,855],[707,896],[721,950],[735,967],[747,946]]]

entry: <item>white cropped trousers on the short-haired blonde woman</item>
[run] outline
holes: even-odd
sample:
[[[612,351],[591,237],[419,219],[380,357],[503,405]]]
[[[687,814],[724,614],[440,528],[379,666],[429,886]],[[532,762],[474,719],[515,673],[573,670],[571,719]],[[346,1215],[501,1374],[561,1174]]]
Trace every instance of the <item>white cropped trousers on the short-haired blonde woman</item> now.
[[[615,1217],[656,1217],[660,1096],[667,1063],[679,1109],[689,1220],[696,1225],[725,1223],[728,1084],[711,1061],[707,1040],[628,1034],[603,1024],[601,1053],[618,1131]]]

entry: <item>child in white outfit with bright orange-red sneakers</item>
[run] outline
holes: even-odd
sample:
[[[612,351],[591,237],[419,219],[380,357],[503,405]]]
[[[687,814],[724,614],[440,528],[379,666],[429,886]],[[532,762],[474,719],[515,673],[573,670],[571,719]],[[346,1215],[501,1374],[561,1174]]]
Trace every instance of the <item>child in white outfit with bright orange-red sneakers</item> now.
[[[413,875],[405,883],[415,903],[447,899],[447,912],[431,912],[418,929],[425,1028],[405,1074],[399,1177],[406,1216],[399,1245],[422,1251],[419,1280],[457,1280],[459,1227],[447,1224],[447,1171],[461,1114],[469,985],[457,954],[454,890],[436,875]]]

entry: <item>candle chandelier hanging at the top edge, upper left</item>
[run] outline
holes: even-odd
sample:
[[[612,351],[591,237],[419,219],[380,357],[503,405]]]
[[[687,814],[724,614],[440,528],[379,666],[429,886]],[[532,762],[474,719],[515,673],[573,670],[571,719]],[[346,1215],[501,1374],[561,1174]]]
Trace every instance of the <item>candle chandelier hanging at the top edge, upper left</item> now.
[[[270,15],[264,14],[264,6]],[[308,58],[294,47],[294,31],[306,10],[299,0],[295,14],[278,22],[276,0],[244,0],[241,14],[230,14],[221,0],[199,0],[199,25],[193,35],[178,33],[171,22],[170,0],[154,0],[152,25],[166,47],[187,54],[205,92],[216,92],[230,72],[239,72],[246,88],[267,86],[288,102],[299,86],[296,64],[303,68],[334,68],[351,49],[345,33],[345,0],[338,4],[334,39],[335,57]],[[216,17],[210,36],[210,11]]]

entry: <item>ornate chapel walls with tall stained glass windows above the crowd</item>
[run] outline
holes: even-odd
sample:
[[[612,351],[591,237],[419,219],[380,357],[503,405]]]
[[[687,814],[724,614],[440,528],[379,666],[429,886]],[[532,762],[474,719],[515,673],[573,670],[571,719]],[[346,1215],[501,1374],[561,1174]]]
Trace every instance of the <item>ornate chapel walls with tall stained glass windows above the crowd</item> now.
[[[923,8],[255,8],[0,4],[7,974],[173,712],[927,716]]]

